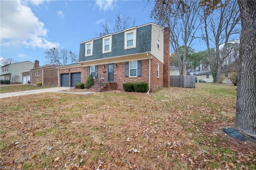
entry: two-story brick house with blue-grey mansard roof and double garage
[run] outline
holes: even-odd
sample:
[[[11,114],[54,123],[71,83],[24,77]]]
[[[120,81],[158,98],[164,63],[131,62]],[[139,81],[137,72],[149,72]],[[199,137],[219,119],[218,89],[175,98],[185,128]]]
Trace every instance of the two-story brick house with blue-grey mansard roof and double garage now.
[[[59,86],[74,87],[86,82],[106,82],[123,89],[125,82],[148,82],[154,92],[170,84],[170,31],[155,23],[89,39],[80,43],[78,63],[58,67]]]

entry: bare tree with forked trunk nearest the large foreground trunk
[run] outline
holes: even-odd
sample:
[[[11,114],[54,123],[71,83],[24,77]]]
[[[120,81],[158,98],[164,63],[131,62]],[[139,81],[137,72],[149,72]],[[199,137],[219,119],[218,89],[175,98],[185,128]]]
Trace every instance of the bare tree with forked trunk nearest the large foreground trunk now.
[[[240,29],[236,27],[240,21],[240,12],[236,1],[220,1],[220,6],[215,11],[220,13],[218,16],[214,13],[208,14],[206,12],[207,8],[207,6],[204,6],[201,15],[204,22],[202,38],[207,45],[213,82],[219,82],[222,65],[230,53],[228,42],[231,35],[240,33]],[[214,44],[214,53],[211,50],[212,43]],[[220,51],[221,44],[224,45]]]

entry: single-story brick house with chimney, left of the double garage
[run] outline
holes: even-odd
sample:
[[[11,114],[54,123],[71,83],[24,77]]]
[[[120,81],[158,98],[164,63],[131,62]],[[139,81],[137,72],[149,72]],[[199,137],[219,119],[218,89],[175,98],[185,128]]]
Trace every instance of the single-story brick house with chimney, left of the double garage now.
[[[39,61],[35,61],[34,69],[31,69],[30,83],[36,86],[37,82],[42,82],[42,86],[58,86],[58,66],[56,64],[39,66]],[[29,72],[24,72],[27,75]]]

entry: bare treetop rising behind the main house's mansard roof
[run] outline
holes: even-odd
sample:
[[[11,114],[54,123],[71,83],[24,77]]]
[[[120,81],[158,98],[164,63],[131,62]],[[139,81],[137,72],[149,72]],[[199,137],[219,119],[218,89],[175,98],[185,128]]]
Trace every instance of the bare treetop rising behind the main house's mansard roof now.
[[[102,27],[102,31],[99,32],[99,33],[95,33],[95,36],[96,37],[102,37],[104,35],[108,35],[110,34],[112,31],[114,32],[118,32],[118,31],[122,31],[128,27],[134,27],[136,23],[136,18],[130,18],[129,16],[122,16],[121,13],[118,13],[116,15],[116,21],[114,23],[114,26],[113,26],[113,30],[111,30],[111,18],[108,18],[108,20],[104,20],[102,23],[101,23],[101,27]]]

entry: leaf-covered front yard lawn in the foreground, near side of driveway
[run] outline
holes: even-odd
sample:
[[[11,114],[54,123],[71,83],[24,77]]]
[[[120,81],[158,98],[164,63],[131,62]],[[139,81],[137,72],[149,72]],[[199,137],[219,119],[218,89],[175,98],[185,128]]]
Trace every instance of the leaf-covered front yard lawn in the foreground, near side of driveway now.
[[[255,169],[256,144],[223,133],[236,87],[150,95],[46,93],[1,100],[2,167],[68,170]]]

